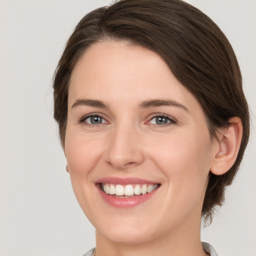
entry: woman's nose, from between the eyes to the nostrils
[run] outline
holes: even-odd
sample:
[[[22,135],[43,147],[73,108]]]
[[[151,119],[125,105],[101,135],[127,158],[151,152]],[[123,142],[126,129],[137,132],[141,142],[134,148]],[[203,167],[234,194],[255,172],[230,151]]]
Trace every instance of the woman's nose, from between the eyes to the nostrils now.
[[[139,134],[132,127],[115,127],[108,140],[105,161],[116,169],[128,169],[144,160]]]

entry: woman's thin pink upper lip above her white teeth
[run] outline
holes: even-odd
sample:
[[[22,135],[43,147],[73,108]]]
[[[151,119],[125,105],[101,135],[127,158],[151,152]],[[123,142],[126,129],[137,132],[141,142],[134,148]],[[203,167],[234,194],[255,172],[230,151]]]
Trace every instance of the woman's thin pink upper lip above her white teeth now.
[[[137,178],[137,177],[103,177],[99,178],[95,181],[95,183],[111,183],[111,184],[120,184],[120,185],[127,185],[127,184],[158,184],[158,182]]]

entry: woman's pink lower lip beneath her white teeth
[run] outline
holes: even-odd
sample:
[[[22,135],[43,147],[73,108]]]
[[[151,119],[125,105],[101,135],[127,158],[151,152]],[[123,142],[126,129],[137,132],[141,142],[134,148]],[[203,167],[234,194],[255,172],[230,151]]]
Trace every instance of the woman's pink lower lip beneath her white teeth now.
[[[104,201],[116,208],[130,208],[140,203],[143,203],[147,201],[152,195],[154,195],[154,193],[158,189],[157,187],[150,193],[135,195],[133,197],[120,198],[110,194],[106,194],[100,189],[100,185],[97,185],[97,188],[99,190],[99,194],[104,199]]]

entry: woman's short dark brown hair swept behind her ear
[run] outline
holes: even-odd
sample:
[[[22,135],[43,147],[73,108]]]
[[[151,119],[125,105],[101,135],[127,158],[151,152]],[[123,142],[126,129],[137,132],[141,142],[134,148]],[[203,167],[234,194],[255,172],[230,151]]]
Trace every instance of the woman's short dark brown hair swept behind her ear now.
[[[209,173],[202,216],[211,222],[241,162],[249,137],[249,112],[234,51],[219,27],[181,0],[120,0],[86,14],[69,37],[55,70],[54,118],[65,142],[68,84],[81,54],[102,40],[125,40],[146,47],[167,63],[174,76],[197,98],[209,132],[241,118],[243,135],[233,166],[222,175]]]

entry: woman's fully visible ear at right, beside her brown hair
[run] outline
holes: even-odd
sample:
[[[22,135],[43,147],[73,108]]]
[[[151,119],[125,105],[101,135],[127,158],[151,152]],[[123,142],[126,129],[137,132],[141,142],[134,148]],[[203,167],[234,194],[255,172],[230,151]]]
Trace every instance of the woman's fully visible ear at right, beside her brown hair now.
[[[227,127],[217,131],[217,147],[210,168],[210,171],[215,175],[224,174],[232,167],[241,144],[241,119],[235,116],[231,117],[228,122],[230,124]]]

